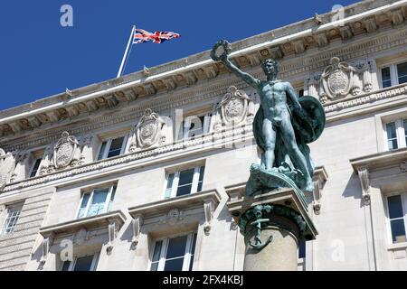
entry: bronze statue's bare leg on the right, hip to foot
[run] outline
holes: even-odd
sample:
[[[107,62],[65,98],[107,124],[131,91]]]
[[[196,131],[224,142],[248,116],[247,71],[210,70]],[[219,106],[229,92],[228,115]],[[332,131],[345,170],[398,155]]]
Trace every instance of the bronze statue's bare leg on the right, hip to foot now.
[[[298,169],[304,174],[306,178],[306,190],[312,191],[313,190],[313,183],[311,175],[308,171],[308,162],[306,156],[301,153],[299,150],[298,144],[296,142],[296,135],[294,133],[294,128],[291,125],[289,113],[284,114],[282,116],[281,126],[281,137],[283,139],[284,144],[287,146],[287,150],[289,152],[289,156],[292,157],[292,161],[294,165],[298,166]]]

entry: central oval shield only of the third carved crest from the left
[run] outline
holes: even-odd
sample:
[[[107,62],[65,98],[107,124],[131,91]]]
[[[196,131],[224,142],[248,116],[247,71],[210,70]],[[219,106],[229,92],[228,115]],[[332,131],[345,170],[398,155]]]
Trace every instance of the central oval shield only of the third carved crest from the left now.
[[[137,144],[145,148],[157,142],[164,143],[166,140],[166,136],[162,135],[164,124],[161,117],[147,108],[136,126]]]

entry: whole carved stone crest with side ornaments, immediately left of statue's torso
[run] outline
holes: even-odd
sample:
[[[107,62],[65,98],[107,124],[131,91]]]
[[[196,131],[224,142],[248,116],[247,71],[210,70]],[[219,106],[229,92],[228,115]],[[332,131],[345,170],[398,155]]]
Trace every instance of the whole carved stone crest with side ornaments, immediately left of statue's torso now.
[[[223,126],[250,124],[254,119],[255,107],[245,91],[229,87],[219,104],[214,107],[213,130],[220,131]]]

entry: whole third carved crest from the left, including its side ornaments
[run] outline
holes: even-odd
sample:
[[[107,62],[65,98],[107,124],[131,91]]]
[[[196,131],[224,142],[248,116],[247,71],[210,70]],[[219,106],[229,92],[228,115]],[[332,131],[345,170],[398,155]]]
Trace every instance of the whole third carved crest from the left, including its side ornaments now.
[[[137,126],[131,130],[130,153],[166,143],[166,121],[158,114],[147,108]]]

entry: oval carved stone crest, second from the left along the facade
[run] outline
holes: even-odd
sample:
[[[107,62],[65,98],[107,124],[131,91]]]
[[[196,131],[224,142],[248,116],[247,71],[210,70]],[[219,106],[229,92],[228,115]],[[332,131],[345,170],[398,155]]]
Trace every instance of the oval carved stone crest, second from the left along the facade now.
[[[56,169],[68,166],[74,160],[78,149],[78,140],[68,132],[63,132],[53,148],[53,165]],[[79,161],[79,160],[76,160]]]

